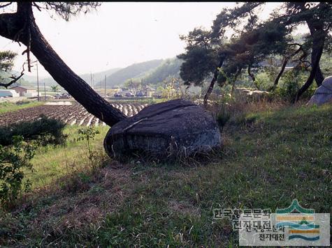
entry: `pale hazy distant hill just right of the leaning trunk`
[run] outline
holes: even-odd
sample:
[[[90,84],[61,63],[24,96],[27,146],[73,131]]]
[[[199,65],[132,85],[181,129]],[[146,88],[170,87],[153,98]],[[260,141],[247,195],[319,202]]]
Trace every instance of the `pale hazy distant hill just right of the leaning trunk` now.
[[[163,61],[163,59],[155,59],[153,61],[134,63],[133,65],[129,65],[126,68],[118,70],[112,75],[106,77],[106,87],[110,88],[113,86],[123,86],[124,82],[126,82],[128,79],[143,77],[148,72],[152,72],[154,68],[157,68],[159,65],[161,65]],[[97,83],[96,86],[98,87],[98,85],[99,84]]]

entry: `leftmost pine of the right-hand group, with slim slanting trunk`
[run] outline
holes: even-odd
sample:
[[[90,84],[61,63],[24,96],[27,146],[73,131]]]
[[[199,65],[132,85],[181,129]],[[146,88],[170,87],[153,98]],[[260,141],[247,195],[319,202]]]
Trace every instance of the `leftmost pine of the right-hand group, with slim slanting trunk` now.
[[[233,9],[226,8],[217,15],[211,31],[194,29],[182,37],[187,41],[187,51],[178,57],[185,61],[180,69],[185,84],[201,85],[207,77],[212,77],[204,105],[215,82],[219,86],[226,82],[233,84],[238,75],[247,70],[256,84],[252,68],[259,67],[268,56],[284,51],[291,29],[274,20],[261,24],[254,13],[259,6],[261,3],[244,3]],[[236,31],[231,38],[224,36],[228,28]]]

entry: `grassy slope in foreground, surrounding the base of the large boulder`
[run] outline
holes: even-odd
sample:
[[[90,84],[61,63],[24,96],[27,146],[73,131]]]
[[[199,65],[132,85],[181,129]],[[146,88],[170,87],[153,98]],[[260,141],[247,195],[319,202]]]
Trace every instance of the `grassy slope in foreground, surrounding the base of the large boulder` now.
[[[275,211],[298,199],[331,212],[331,116],[331,104],[246,111],[198,166],[109,160],[100,150],[107,129],[94,141],[100,159],[89,161],[85,141],[73,141],[68,127],[66,148],[35,157],[35,191],[0,214],[0,244],[238,247],[238,233],[212,218],[214,208]]]

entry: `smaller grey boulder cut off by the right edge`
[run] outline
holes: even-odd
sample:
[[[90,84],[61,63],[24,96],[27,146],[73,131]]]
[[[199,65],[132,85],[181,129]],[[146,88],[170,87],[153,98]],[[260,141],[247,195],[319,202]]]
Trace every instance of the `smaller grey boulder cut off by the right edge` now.
[[[321,105],[326,102],[332,102],[332,76],[324,79],[322,85],[317,88],[315,94],[312,95],[307,105]]]

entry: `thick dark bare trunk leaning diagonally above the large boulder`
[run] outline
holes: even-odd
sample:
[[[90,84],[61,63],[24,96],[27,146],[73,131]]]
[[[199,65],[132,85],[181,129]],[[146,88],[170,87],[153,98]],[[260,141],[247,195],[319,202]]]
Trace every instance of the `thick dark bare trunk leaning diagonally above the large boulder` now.
[[[34,21],[31,2],[18,2],[16,13],[0,15],[0,36],[26,45],[53,79],[104,123],[114,125],[127,118],[78,77],[52,49]]]

